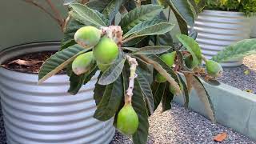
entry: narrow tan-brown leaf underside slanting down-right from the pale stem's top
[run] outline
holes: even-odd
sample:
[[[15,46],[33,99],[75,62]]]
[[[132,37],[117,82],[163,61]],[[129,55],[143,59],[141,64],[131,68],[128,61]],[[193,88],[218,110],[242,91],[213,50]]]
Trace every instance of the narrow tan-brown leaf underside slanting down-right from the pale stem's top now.
[[[175,91],[175,93],[176,93],[177,95],[178,95],[178,94],[182,94],[182,91],[181,91],[180,87],[178,86],[178,83],[175,82],[174,78],[172,78],[172,77],[170,76],[170,74],[168,74],[167,71],[164,70],[164,69],[162,68],[162,66],[160,66],[160,65],[158,64],[158,62],[154,62],[154,61],[151,60],[150,58],[147,58],[147,57],[145,57],[145,56],[143,56],[143,55],[140,55],[140,57],[141,57],[144,61],[146,61],[146,62],[150,63],[151,65],[153,65],[153,66],[154,66],[154,69],[155,69],[155,70],[158,70],[158,73],[159,73],[159,74],[162,74],[162,76],[164,76],[164,77],[167,79],[167,81],[170,82],[170,86],[174,86],[174,91]]]

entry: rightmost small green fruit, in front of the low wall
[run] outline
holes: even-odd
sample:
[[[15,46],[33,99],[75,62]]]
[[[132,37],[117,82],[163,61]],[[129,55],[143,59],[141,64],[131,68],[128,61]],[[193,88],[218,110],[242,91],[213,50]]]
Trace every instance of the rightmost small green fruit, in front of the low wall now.
[[[206,61],[206,70],[207,74],[214,78],[222,76],[223,72],[222,66],[218,62],[212,60]]]

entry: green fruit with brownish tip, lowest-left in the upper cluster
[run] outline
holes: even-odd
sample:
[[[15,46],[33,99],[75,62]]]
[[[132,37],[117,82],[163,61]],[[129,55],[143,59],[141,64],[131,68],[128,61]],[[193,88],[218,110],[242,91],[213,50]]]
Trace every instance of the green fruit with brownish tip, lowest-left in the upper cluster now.
[[[94,54],[92,51],[85,54],[80,54],[72,62],[72,70],[74,74],[77,74],[77,75],[84,74],[88,70],[90,70],[94,62],[95,62]]]

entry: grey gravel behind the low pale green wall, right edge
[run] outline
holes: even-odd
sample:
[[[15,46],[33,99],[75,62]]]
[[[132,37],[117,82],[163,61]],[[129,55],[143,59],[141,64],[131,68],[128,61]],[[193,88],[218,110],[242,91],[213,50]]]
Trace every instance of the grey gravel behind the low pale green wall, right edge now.
[[[219,81],[256,94],[256,54],[244,58],[242,66],[224,68]]]

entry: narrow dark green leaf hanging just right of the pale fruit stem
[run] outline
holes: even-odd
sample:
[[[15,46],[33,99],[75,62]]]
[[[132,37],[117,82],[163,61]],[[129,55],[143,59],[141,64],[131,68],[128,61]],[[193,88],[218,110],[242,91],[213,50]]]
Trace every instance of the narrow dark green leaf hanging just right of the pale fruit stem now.
[[[143,71],[138,67],[136,70],[136,74],[138,74],[138,84],[142,90],[142,93],[145,95],[147,105],[149,106],[150,114],[154,113],[154,98],[152,94],[152,90],[150,88],[150,84],[143,75]]]

